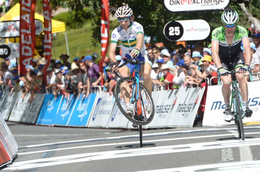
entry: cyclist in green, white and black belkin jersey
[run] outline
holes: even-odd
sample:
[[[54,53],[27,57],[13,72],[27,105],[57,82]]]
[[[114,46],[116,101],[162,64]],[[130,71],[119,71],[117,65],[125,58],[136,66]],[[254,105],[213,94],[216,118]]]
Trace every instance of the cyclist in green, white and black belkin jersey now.
[[[243,99],[243,106],[246,112],[246,117],[251,117],[252,111],[248,106],[248,88],[244,78],[244,73],[250,70],[251,50],[247,30],[238,26],[238,13],[234,9],[225,9],[221,15],[223,25],[212,31],[212,57],[220,73],[220,78],[223,83],[222,94],[225,101],[225,121],[232,120],[230,109],[230,86],[232,83],[231,76],[228,74],[230,70],[239,70],[236,73],[237,82],[239,83],[240,92]],[[245,57],[241,50],[241,41],[245,50]]]

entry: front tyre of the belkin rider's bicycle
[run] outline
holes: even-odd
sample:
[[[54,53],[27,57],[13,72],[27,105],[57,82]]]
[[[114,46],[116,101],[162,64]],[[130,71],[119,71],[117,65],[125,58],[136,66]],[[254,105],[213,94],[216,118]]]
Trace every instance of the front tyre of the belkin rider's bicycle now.
[[[239,116],[239,121],[237,121],[238,128],[239,128],[239,138],[242,138],[242,140],[245,140],[244,127],[243,127],[243,121],[242,121],[242,112],[240,109],[240,99],[239,99],[237,87],[235,87],[235,101],[236,101],[236,110],[237,110],[237,113]]]

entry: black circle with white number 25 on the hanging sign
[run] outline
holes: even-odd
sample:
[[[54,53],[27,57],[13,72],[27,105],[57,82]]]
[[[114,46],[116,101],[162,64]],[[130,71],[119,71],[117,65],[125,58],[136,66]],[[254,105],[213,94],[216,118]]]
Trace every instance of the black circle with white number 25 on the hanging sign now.
[[[163,34],[169,41],[176,41],[182,37],[183,27],[179,22],[171,21],[165,25]]]

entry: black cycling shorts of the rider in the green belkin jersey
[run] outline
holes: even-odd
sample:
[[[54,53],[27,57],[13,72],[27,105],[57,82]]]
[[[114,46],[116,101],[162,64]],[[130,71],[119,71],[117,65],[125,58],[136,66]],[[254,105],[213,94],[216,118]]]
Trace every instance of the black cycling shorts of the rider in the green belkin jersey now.
[[[241,67],[241,65],[245,64],[245,59],[243,56],[243,51],[238,51],[235,56],[233,57],[223,57],[221,53],[218,54],[222,67],[228,68],[228,70],[235,70],[238,67]],[[238,66],[240,65],[240,66]]]

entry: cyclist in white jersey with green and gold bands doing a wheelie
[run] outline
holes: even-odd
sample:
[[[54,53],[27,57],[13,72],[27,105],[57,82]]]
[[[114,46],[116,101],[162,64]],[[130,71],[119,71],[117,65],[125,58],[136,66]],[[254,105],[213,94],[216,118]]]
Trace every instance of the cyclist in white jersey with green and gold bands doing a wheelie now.
[[[151,65],[148,60],[147,55],[145,54],[145,45],[144,45],[144,31],[143,26],[134,20],[132,9],[128,6],[119,7],[116,11],[116,16],[119,22],[119,26],[116,27],[111,35],[111,43],[109,49],[109,58],[110,62],[114,65],[112,70],[116,70],[117,61],[115,58],[115,50],[117,48],[117,43],[121,44],[121,57],[132,58],[137,56],[137,58],[145,62],[145,65],[141,66],[140,64],[140,71],[143,75],[143,84],[147,88],[147,90],[152,93],[152,80],[150,77]],[[129,51],[130,50],[130,51]],[[121,63],[123,63],[121,61]],[[121,68],[119,68],[119,73],[122,77],[129,77],[134,71],[134,65],[127,64]],[[125,85],[128,90],[130,90],[128,85]],[[124,99],[130,99],[124,98]],[[133,104],[126,103],[126,110],[125,112],[128,115],[132,115]],[[150,111],[151,105],[150,101],[147,100],[146,102],[146,110]]]

